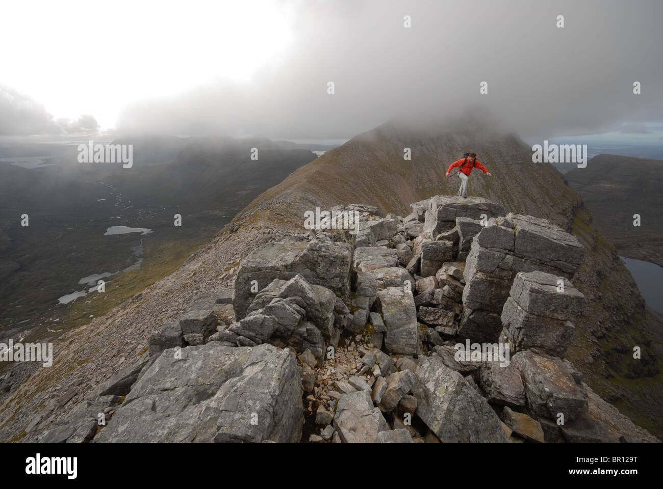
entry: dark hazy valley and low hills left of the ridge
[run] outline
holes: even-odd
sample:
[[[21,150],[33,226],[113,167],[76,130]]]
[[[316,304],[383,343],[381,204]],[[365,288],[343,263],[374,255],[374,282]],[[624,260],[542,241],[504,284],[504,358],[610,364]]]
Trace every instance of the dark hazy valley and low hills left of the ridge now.
[[[43,151],[50,146],[56,145]],[[0,162],[0,338],[48,336],[48,329],[105,313],[176,270],[247,203],[316,158],[265,139],[143,138],[133,167],[123,169],[80,163],[76,148],[68,145],[58,165],[38,171]],[[21,227],[23,213],[29,227]],[[176,213],[181,227],[173,225]],[[152,233],[104,234],[118,225]],[[58,304],[65,294],[88,290],[82,277],[104,273],[112,274],[107,294]]]

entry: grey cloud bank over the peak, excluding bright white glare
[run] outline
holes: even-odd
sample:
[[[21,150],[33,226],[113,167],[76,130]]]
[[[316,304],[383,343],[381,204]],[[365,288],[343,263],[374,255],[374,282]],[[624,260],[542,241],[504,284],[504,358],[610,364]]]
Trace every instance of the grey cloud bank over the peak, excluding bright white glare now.
[[[127,107],[118,131],[350,138],[389,120],[427,127],[476,114],[550,138],[661,122],[660,2],[294,5],[283,62],[249,83],[207,83]]]

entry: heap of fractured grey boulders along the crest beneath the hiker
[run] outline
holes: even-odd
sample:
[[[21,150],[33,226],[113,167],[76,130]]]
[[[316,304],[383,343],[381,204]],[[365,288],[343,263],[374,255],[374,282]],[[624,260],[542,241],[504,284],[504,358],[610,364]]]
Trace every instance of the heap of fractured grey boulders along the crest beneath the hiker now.
[[[348,208],[356,235],[272,231],[232,287],[188,294],[137,362],[65,393],[75,407],[46,407],[28,439],[656,441],[564,358],[585,301],[573,235],[478,197]]]

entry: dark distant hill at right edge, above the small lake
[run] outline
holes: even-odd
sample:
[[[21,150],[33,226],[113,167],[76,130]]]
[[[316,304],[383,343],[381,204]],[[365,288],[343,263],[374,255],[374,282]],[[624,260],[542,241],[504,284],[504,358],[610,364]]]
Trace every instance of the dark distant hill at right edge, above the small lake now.
[[[663,161],[599,154],[566,179],[620,254],[663,266]],[[640,226],[633,225],[635,214]]]

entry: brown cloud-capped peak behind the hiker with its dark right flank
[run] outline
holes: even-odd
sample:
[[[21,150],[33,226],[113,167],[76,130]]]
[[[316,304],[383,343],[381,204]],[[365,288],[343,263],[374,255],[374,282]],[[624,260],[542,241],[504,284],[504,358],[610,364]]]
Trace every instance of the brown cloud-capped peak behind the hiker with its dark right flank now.
[[[404,160],[411,148],[412,160]],[[576,326],[568,357],[582,368],[603,398],[657,435],[663,386],[663,320],[646,307],[615,248],[595,229],[581,196],[551,164],[532,163],[531,148],[517,136],[487,131],[425,134],[383,125],[356,136],[258,197],[233,224],[288,221],[302,225],[316,205],[377,205],[410,213],[409,203],[436,194],[455,194],[459,178],[445,178],[463,152],[477,153],[489,177],[474,170],[469,195],[501,203],[516,213],[544,217],[572,232],[585,246],[585,264],[573,283],[589,299]],[[633,358],[640,346],[642,358]]]

